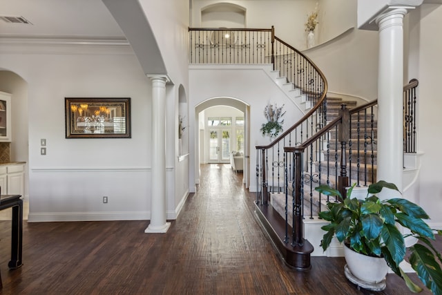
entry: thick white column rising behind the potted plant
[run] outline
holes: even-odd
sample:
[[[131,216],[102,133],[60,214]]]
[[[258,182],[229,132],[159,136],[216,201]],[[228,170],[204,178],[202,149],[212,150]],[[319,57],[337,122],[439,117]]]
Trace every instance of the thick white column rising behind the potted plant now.
[[[379,27],[377,180],[403,190],[403,17],[405,9],[376,17]],[[388,192],[390,198],[392,191]]]

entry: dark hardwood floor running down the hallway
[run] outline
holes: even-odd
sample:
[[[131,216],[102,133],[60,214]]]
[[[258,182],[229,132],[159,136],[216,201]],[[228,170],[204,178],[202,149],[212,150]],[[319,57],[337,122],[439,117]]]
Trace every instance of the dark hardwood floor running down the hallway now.
[[[242,175],[224,164],[201,169],[197,193],[166,234],[144,234],[148,221],[24,222],[23,267],[8,270],[10,222],[0,222],[1,294],[410,294],[393,275],[383,292],[358,290],[343,258],[287,268],[256,222]]]

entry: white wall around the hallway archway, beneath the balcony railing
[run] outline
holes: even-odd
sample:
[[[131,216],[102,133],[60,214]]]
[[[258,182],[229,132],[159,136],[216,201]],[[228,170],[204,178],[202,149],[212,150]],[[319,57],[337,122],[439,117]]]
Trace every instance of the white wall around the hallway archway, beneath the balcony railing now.
[[[250,167],[256,167],[255,146],[267,145],[269,137],[263,137],[260,128],[267,120],[264,116],[264,108],[268,102],[282,106],[287,111],[283,124],[284,130],[292,126],[302,116],[298,106],[283,93],[267,74],[267,66],[219,66],[215,69],[204,68],[204,66],[192,66],[189,70],[189,88],[191,93],[190,112],[195,117],[195,107],[198,104],[215,97],[232,97],[250,106]],[[191,146],[190,153],[198,149],[198,126],[191,121]],[[195,148],[197,146],[197,148]],[[198,167],[191,161],[191,180],[198,182]],[[195,183],[195,182],[194,182]],[[250,191],[256,191],[256,183],[251,181]]]

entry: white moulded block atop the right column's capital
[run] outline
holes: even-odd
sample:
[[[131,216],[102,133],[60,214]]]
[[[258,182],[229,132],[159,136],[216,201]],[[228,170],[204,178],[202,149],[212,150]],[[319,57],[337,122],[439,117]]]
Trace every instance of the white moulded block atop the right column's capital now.
[[[378,30],[378,19],[390,15],[394,10],[412,10],[421,6],[423,0],[358,0],[358,28]]]

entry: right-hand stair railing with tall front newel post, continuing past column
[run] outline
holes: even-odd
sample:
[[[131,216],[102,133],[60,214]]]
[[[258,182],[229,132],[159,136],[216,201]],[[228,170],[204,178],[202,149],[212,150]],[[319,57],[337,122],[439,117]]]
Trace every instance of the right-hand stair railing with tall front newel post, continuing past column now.
[[[409,84],[403,87],[404,117],[409,116],[409,122],[404,122],[404,134],[409,133],[409,130],[414,130],[409,135],[404,135],[404,153],[410,152],[410,150],[415,153],[416,150],[414,113],[418,85],[419,82],[412,79]],[[377,99],[352,109],[348,109],[345,104],[342,104],[338,117],[323,129],[298,146],[285,147],[285,235],[283,238],[285,242],[289,240],[292,243],[302,242],[302,220],[306,217],[303,209],[307,199],[310,199],[310,219],[314,218],[312,214],[314,202],[311,200],[314,198],[314,194],[317,198],[318,211],[321,211],[321,204],[330,201],[328,196],[321,196],[314,191],[314,187],[311,186],[312,182],[306,181],[311,178],[311,175],[309,178],[305,177],[304,166],[309,166],[312,162],[318,163],[322,159],[327,163],[327,169],[330,166],[334,167],[337,175],[334,185],[342,196],[347,195],[346,188],[352,183],[356,182],[356,185],[361,187],[376,181],[377,104]],[[311,158],[308,153],[314,149],[314,146],[326,146],[327,149],[316,153],[318,158]],[[334,146],[336,151],[333,155],[331,146]],[[332,164],[330,165],[329,162]],[[319,169],[319,173],[321,173],[321,169]],[[327,173],[328,181],[329,171],[324,170],[323,173]],[[323,178],[319,175],[318,183],[315,186],[320,185],[321,180]],[[307,198],[306,191],[309,191]],[[324,200],[322,200],[323,197]],[[291,222],[289,221],[290,216]],[[291,232],[289,232],[290,229]]]

